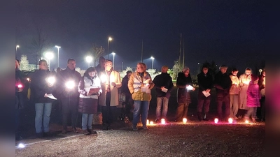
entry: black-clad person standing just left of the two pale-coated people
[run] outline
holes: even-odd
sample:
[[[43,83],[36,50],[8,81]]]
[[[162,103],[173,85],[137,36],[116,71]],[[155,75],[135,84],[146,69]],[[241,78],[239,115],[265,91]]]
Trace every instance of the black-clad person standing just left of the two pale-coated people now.
[[[218,118],[221,121],[227,121],[230,117],[230,87],[232,86],[232,80],[226,73],[228,66],[220,66],[220,71],[215,75],[215,87],[217,95],[217,110]],[[225,104],[225,117],[223,117],[223,103]]]

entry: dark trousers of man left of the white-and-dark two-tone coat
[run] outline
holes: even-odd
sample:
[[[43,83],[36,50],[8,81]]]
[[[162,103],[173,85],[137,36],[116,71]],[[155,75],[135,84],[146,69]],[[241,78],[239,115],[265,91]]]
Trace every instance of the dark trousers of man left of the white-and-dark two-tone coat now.
[[[68,123],[68,116],[71,113],[71,126],[76,128],[78,118],[78,98],[62,99],[62,126],[66,130]]]

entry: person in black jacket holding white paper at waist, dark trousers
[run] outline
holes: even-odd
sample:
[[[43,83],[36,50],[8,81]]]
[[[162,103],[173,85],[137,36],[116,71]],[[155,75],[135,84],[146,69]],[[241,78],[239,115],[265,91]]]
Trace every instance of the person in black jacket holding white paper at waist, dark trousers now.
[[[202,72],[197,75],[198,88],[198,103],[197,103],[197,118],[199,121],[208,121],[208,112],[211,102],[210,91],[214,87],[214,80],[211,74],[208,73],[208,66],[202,66]],[[205,95],[204,95],[205,94]],[[202,107],[204,105],[204,115]]]

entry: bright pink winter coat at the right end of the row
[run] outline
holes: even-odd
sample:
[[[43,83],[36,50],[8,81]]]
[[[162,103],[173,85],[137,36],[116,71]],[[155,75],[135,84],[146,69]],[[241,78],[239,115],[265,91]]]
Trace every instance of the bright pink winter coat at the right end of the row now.
[[[258,84],[250,82],[247,90],[247,107],[260,107],[260,97]]]

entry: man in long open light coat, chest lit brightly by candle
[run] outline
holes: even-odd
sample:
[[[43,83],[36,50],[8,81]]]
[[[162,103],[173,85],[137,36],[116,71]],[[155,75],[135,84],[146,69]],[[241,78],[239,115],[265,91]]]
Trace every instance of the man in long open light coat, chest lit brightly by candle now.
[[[104,130],[111,130],[113,110],[118,105],[118,88],[122,87],[120,73],[113,69],[111,60],[105,61],[105,69],[99,73],[102,95],[99,96],[99,105],[102,110],[102,126]]]

